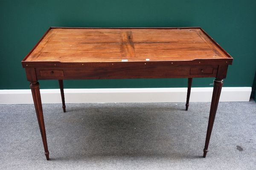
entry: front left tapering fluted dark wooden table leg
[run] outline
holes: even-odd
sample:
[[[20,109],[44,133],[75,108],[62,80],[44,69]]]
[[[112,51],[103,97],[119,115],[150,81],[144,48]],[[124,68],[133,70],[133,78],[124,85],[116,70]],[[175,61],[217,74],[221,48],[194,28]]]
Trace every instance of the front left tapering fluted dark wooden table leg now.
[[[46,156],[46,159],[49,160],[49,151],[48,151],[46,132],[44,127],[44,115],[43,115],[41,95],[39,90],[39,83],[30,82],[30,88],[32,91],[32,96],[33,96],[34,105],[35,105],[35,112],[38,119],[38,125],[40,128],[40,132],[41,132],[41,136],[44,144],[44,154]]]

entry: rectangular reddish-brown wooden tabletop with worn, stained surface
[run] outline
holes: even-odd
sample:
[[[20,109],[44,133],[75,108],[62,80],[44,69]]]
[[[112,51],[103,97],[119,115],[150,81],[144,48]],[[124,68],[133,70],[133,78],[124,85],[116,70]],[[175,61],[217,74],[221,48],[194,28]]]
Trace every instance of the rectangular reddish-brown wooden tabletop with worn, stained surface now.
[[[201,28],[49,28],[23,61],[144,62],[194,59],[232,57]]]

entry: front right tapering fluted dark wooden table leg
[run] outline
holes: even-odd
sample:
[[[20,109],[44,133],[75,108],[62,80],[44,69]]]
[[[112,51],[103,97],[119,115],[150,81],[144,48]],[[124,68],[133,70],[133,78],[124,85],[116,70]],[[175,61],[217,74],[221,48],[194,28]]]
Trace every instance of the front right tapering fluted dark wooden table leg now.
[[[204,145],[204,158],[206,157],[206,154],[208,152],[208,145],[209,145],[209,141],[212,133],[212,127],[213,127],[216,111],[218,108],[218,101],[220,99],[222,85],[223,85],[223,79],[214,80],[214,86],[213,86],[213,92],[212,92],[212,103],[211,103],[207,134],[206,134],[205,145]]]

